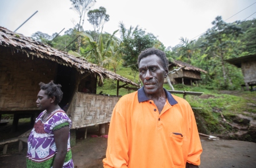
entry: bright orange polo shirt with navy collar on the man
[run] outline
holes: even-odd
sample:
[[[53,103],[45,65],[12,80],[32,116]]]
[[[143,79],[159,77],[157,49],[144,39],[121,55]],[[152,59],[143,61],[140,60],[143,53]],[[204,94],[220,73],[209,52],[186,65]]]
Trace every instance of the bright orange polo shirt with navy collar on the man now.
[[[165,89],[159,114],[143,87],[115,105],[104,167],[159,168],[200,165],[202,147],[191,106]]]

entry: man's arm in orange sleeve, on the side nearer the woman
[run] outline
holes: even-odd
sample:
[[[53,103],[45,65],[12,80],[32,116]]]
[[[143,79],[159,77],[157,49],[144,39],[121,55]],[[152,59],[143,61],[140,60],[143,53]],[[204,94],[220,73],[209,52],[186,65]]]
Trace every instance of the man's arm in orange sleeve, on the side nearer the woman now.
[[[119,110],[122,110],[123,106],[125,105],[118,103],[112,113],[109,127],[108,148],[106,150],[106,158],[103,160],[105,168],[127,167],[129,162],[126,120],[125,117],[119,113]]]

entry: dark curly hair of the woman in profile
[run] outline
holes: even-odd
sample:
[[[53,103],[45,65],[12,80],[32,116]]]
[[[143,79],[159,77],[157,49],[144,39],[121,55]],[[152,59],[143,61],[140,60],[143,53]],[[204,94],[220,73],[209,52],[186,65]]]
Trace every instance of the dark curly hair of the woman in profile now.
[[[61,91],[61,85],[55,84],[51,80],[48,84],[45,84],[43,82],[39,83],[40,89],[44,90],[45,94],[49,97],[55,97],[54,103],[57,105],[62,100],[63,92]]]

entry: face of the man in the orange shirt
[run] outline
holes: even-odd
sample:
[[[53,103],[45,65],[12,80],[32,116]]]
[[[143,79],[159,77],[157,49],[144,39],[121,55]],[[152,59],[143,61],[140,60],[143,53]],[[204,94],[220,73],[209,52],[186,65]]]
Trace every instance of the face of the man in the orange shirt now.
[[[162,59],[157,55],[148,55],[139,62],[139,77],[146,94],[161,93],[167,68],[163,67]]]

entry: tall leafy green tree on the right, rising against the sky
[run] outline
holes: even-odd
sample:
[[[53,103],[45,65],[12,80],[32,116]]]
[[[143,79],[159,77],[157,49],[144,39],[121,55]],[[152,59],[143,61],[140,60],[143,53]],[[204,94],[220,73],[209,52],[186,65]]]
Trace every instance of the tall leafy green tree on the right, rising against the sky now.
[[[215,74],[222,73],[224,87],[227,88],[228,85],[232,85],[232,80],[228,75],[229,64],[225,62],[225,59],[234,57],[233,49],[239,43],[236,38],[241,35],[242,29],[238,27],[237,23],[225,23],[221,16],[217,16],[212,24],[213,27],[208,29],[204,35],[205,41],[202,46],[206,53],[205,58],[208,57],[208,61],[212,62],[212,66],[221,67],[221,70],[214,69]]]

